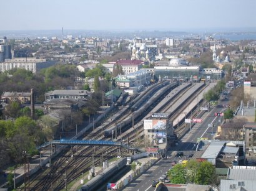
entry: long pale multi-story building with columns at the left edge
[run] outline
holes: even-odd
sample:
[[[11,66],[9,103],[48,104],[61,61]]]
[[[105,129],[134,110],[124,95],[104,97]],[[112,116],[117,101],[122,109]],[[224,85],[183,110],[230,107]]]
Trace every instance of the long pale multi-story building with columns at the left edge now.
[[[56,61],[38,58],[14,58],[7,59],[5,62],[0,62],[0,72],[6,72],[12,70],[13,68],[23,68],[31,71],[32,73],[37,73],[42,68],[48,68],[56,64]]]

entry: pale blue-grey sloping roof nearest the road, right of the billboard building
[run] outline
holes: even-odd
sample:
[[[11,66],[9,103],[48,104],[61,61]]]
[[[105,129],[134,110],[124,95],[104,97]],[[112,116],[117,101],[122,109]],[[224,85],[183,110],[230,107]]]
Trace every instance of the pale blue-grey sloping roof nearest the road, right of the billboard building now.
[[[202,159],[215,159],[219,155],[225,142],[211,142],[202,155]]]

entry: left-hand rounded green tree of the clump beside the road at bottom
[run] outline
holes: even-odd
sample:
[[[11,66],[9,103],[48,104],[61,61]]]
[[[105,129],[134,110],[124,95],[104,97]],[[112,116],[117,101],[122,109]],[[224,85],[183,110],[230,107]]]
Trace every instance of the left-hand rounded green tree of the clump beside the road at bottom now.
[[[173,184],[186,184],[187,172],[184,165],[176,164],[169,171],[169,178]]]

